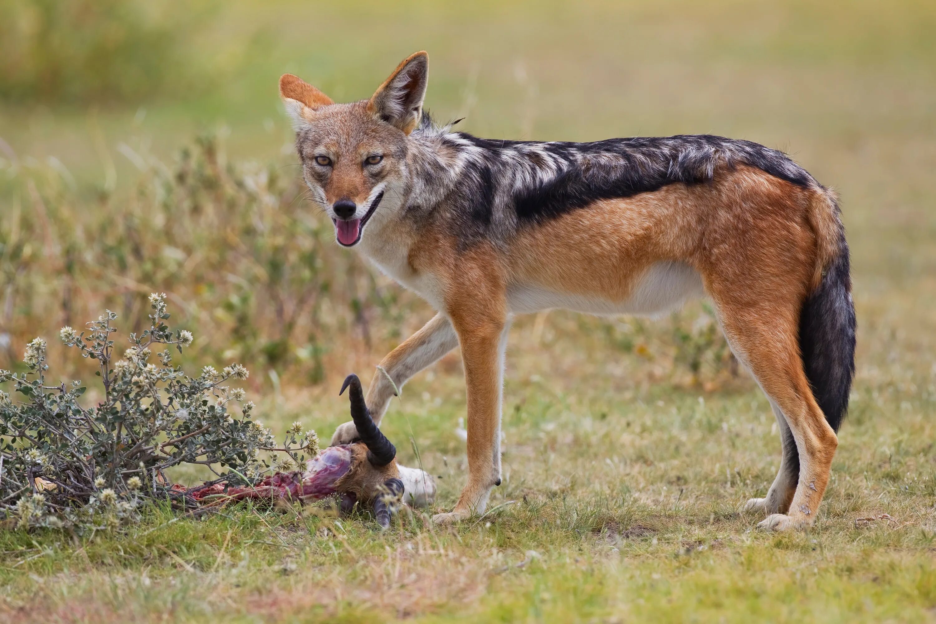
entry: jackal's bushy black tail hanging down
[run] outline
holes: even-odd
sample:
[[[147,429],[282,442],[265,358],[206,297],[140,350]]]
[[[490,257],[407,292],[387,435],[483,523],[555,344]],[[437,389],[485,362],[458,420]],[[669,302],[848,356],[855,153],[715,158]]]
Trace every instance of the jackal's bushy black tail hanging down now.
[[[799,316],[806,377],[826,421],[836,431],[848,411],[855,374],[855,329],[848,243],[842,232],[839,253],[826,267],[819,287],[806,297]]]

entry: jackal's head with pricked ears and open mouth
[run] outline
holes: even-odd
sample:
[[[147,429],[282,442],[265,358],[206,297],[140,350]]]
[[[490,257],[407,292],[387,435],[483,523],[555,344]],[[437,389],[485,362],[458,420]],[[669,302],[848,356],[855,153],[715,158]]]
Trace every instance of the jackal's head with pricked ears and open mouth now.
[[[417,52],[370,99],[351,104],[334,103],[292,74],[280,78],[303,178],[345,247],[358,244],[382,202],[399,206],[405,196],[407,138],[422,116],[428,70],[429,55]]]

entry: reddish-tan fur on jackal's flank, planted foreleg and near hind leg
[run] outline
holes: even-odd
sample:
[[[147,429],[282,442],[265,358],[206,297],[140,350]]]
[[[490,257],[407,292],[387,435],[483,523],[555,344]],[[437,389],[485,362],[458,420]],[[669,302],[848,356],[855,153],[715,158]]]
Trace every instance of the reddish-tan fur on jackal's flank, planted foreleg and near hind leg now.
[[[470,475],[456,515],[496,479],[489,467],[506,284],[533,281],[617,301],[652,263],[675,260],[702,275],[732,347],[786,415],[801,457],[789,521],[811,523],[837,446],[812,398],[797,342],[801,302],[812,290],[814,268],[824,263],[817,240],[825,234],[813,229],[814,206],[822,201],[815,191],[738,167],[719,172],[710,186],[674,184],[567,213],[522,232],[505,253],[420,246],[431,252],[417,254],[417,265],[447,283],[446,311],[460,336],[469,388]]]

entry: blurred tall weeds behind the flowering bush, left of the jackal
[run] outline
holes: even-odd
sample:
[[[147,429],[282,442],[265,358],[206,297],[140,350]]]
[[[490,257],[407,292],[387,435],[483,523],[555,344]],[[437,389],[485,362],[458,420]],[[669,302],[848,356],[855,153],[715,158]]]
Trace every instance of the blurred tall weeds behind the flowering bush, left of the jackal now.
[[[232,163],[212,137],[174,162],[137,156],[139,183],[119,196],[0,160],[0,367],[18,366],[12,345],[37,334],[37,319],[74,326],[108,309],[146,327],[140,295],[157,288],[197,332],[197,356],[251,362],[264,376],[319,383],[329,358],[399,342],[415,297],[335,244],[295,168]],[[59,357],[51,351],[51,364],[70,372]]]

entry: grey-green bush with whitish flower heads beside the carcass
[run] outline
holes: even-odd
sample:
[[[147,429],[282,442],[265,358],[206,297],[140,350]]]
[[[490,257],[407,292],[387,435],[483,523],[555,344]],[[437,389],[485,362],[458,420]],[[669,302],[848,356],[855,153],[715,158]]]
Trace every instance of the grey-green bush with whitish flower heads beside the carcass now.
[[[81,356],[97,361],[103,399],[85,407],[86,387],[47,382],[46,341],[27,347],[26,372],[0,371],[23,400],[0,392],[0,515],[19,528],[77,530],[116,528],[138,515],[140,501],[168,498],[176,506],[192,501],[173,489],[166,471],[180,464],[208,466],[231,484],[251,483],[270,470],[261,451],[284,450],[288,458],[274,470],[291,470],[314,456],[314,431],[294,425],[285,446],[275,448],[271,430],[252,418],[254,404],[229,382],[248,371],[231,364],[222,371],[206,366],[197,377],[172,365],[194,341],[186,330],[165,323],[165,295],[150,296],[150,328],[131,334],[123,356],[112,340],[114,312],[88,324],[88,331],[63,327],[60,336]],[[158,347],[165,347],[154,355]],[[157,363],[151,362],[152,359]],[[231,413],[241,404],[241,415]],[[215,483],[215,482],[212,482]]]

